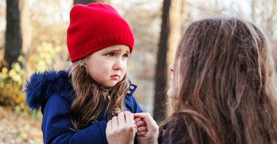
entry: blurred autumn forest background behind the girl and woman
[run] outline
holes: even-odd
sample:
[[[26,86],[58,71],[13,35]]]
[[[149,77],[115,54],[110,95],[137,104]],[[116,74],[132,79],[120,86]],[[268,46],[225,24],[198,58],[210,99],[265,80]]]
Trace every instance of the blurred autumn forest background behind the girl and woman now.
[[[277,56],[277,0],[0,0],[0,143],[43,143],[42,115],[27,109],[22,90],[33,72],[69,65],[69,11],[89,2],[111,4],[131,26],[127,74],[139,86],[136,100],[156,121],[168,114],[168,65],[190,21],[240,15],[265,30]]]

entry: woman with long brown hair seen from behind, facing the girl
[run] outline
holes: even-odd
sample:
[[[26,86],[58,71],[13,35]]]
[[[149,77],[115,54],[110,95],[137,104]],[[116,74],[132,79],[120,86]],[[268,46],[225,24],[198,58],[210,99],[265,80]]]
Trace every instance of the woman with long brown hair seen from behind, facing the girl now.
[[[240,18],[195,21],[175,56],[174,143],[277,143],[276,76],[271,45]],[[186,131],[179,127],[186,127]]]

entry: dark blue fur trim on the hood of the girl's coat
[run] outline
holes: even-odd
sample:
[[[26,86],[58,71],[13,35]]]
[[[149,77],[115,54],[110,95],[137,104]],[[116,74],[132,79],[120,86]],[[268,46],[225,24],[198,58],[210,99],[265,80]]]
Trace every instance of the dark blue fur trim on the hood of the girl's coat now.
[[[72,85],[69,81],[69,71],[35,72],[26,83],[26,104],[31,109],[38,109],[48,101],[49,97],[57,94],[62,99],[72,96]]]

